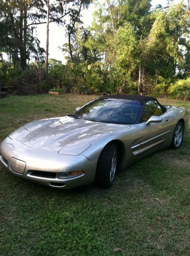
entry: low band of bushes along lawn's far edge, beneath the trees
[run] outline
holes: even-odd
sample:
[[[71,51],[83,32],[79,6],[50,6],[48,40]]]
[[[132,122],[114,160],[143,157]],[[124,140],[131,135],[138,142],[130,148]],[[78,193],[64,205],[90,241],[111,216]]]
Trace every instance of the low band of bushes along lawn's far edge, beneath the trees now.
[[[98,61],[90,65],[87,61],[77,64],[68,61],[66,65],[57,61],[50,65],[48,75],[43,63],[38,66],[32,63],[21,74],[8,64],[0,62],[1,79],[18,94],[48,93],[49,90],[77,94],[138,94],[137,80],[132,81],[120,68],[105,67]],[[146,76],[143,83],[144,95],[185,100],[190,97],[190,78],[176,81],[161,76]]]

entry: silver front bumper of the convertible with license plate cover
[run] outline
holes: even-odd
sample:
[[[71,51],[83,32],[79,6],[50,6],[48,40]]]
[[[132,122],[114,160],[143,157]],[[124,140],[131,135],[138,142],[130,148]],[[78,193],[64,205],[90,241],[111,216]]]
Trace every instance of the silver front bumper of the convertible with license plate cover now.
[[[55,151],[31,148],[9,137],[0,146],[0,163],[9,172],[46,186],[63,189],[94,182],[97,160],[89,160],[83,155],[62,155]],[[82,171],[83,174],[64,177],[64,173],[76,171]]]

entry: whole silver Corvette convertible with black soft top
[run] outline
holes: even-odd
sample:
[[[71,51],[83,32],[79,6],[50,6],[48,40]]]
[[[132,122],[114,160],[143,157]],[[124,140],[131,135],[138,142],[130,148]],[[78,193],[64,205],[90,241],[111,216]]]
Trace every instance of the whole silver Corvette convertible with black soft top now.
[[[0,162],[16,176],[56,188],[113,184],[117,168],[180,147],[187,111],[153,97],[99,97],[72,115],[37,120],[1,144]]]

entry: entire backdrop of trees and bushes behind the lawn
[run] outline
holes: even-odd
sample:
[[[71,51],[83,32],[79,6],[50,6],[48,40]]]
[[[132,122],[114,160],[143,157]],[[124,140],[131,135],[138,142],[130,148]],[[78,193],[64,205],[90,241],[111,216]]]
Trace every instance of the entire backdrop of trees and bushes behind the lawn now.
[[[56,1],[50,21],[62,24],[68,56],[65,65],[49,60],[34,36],[45,23],[45,0],[0,3],[0,83],[19,94],[46,93],[52,88],[78,94],[143,93],[189,99],[190,10],[183,4],[151,7],[150,0],[105,0],[84,28],[82,11],[91,0]],[[187,1],[188,3],[188,1]],[[37,11],[37,12],[36,12]],[[30,60],[35,58],[35,63]]]

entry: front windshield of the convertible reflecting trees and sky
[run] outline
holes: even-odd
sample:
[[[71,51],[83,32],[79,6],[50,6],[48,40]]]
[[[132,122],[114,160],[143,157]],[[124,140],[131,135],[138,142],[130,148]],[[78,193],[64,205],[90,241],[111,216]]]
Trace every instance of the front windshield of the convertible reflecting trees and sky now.
[[[97,122],[133,124],[141,108],[141,102],[136,100],[99,98],[70,116]]]

